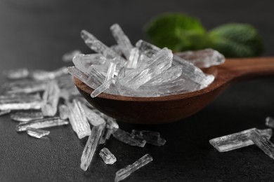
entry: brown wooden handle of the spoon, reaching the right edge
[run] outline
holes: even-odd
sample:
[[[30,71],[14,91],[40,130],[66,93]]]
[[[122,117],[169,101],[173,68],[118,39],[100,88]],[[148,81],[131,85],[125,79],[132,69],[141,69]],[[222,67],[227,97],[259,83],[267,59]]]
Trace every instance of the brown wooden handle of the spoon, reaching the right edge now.
[[[245,80],[259,76],[274,76],[274,57],[230,58],[218,66],[224,80]]]

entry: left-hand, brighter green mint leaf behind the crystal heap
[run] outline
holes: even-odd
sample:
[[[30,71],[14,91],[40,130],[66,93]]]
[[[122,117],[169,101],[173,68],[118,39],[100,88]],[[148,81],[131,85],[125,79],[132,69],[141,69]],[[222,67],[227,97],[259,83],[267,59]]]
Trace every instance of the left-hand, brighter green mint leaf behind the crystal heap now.
[[[145,26],[151,43],[174,51],[197,50],[207,45],[206,31],[200,20],[182,13],[166,13]]]

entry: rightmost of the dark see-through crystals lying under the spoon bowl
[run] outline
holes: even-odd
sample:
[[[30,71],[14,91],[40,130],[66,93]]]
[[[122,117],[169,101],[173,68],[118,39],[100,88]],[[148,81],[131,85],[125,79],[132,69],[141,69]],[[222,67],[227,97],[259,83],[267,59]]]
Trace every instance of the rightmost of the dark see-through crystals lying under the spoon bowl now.
[[[166,144],[167,142],[165,139],[162,139],[160,137],[159,132],[152,132],[148,130],[143,130],[143,131],[132,130],[131,135],[133,137],[144,139],[147,144],[152,144],[155,146],[164,146],[164,144]]]

